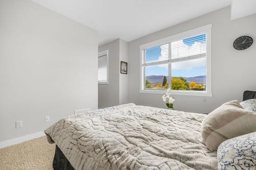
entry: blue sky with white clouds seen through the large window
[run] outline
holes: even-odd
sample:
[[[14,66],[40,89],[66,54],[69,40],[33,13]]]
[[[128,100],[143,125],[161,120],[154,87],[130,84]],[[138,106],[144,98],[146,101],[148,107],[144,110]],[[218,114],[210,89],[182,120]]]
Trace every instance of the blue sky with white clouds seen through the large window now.
[[[183,45],[191,46],[195,42],[205,42],[205,34],[183,40]],[[153,59],[152,59],[153,57]],[[146,62],[157,61],[161,57],[161,47],[146,50]],[[145,68],[145,76],[168,76],[168,65],[149,66]],[[206,75],[205,58],[176,62],[172,64],[173,77],[196,77]]]

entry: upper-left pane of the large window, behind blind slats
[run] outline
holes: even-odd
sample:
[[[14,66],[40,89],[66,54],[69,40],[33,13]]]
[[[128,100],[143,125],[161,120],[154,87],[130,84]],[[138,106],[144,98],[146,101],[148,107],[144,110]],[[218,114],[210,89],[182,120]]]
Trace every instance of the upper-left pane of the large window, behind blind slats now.
[[[164,44],[146,49],[144,63],[168,60],[168,46]]]

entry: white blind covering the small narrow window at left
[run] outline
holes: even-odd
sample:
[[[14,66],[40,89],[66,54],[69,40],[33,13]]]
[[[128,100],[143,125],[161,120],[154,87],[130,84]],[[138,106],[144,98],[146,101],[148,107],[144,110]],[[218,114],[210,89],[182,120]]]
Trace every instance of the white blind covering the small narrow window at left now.
[[[107,55],[98,57],[98,82],[107,82],[108,81],[108,64],[107,64]]]

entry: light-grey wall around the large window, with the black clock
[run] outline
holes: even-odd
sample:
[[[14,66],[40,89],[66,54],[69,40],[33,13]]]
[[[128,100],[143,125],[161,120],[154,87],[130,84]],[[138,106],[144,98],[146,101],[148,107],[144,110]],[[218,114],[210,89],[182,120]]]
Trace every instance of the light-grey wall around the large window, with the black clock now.
[[[175,95],[174,107],[189,112],[210,112],[224,102],[242,100],[244,90],[256,90],[256,42],[235,50],[234,39],[249,35],[256,40],[256,15],[230,20],[230,7],[129,42],[129,102],[165,108],[161,94],[139,93],[139,45],[212,23],[212,97]]]

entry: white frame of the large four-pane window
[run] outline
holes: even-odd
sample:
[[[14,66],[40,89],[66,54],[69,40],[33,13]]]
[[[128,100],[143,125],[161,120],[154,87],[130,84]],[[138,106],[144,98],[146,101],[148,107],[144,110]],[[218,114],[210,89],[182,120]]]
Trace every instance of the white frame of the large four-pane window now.
[[[140,90],[139,90],[139,92],[140,93],[163,94],[167,90],[167,89],[157,89],[157,90],[144,89],[144,81],[145,80],[144,80],[143,57],[144,57],[145,49],[163,45],[166,43],[175,42],[175,41],[178,41],[181,39],[185,39],[185,38],[195,36],[195,35],[200,35],[200,34],[206,34],[206,85],[207,85],[206,91],[172,90],[171,94],[212,96],[212,92],[211,92],[211,24],[140,45]],[[198,58],[201,58],[201,55],[198,55]],[[196,59],[196,56],[195,56],[195,59]],[[172,60],[179,60],[179,58],[172,59]],[[187,57],[187,60],[189,60],[189,57]],[[182,61],[186,61],[186,60],[182,60]],[[170,62],[170,59],[169,59],[169,62]],[[160,64],[160,63],[161,63],[161,61],[158,62],[158,64]],[[170,64],[169,64],[169,75],[170,75],[170,71],[171,71],[171,68],[170,68]],[[171,75],[169,76],[169,82],[171,81],[170,77],[171,77]]]

